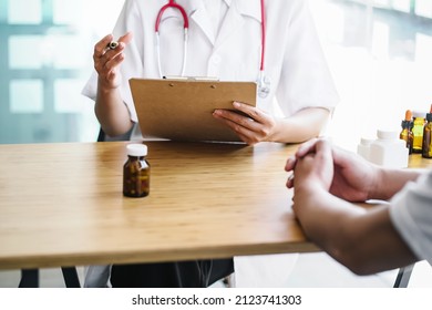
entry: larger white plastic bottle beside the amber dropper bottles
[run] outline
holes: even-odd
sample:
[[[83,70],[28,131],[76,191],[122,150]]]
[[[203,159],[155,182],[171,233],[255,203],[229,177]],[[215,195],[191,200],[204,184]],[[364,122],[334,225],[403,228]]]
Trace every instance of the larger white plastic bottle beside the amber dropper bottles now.
[[[389,168],[408,167],[409,149],[398,132],[378,130],[377,137],[370,145],[371,163]]]

